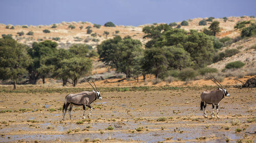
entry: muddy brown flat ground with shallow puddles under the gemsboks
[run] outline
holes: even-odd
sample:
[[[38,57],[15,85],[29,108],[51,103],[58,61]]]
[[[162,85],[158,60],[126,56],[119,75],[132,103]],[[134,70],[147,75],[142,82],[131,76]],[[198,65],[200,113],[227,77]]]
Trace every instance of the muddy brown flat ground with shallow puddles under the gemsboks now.
[[[198,88],[105,92],[90,119],[62,106],[66,94],[1,93],[0,142],[255,142],[256,89],[228,89],[219,116],[200,109]],[[87,108],[86,113],[89,113]]]

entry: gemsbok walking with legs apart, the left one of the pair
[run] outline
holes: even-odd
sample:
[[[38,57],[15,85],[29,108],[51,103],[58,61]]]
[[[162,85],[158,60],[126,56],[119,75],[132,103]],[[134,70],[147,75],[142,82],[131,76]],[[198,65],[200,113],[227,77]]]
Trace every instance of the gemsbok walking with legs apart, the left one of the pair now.
[[[88,83],[90,83],[88,81],[88,79],[86,79],[86,80],[87,80]],[[92,79],[92,81],[93,81],[93,79]],[[95,85],[94,81],[93,81],[93,84]],[[90,85],[93,87],[93,85],[91,83],[90,83]],[[96,88],[96,90],[95,90],[95,88]],[[64,120],[64,117],[65,117],[66,111],[68,109],[68,106],[69,106],[70,120],[72,119],[71,118],[71,110],[72,110],[73,106],[82,106],[83,107],[83,119],[85,119],[84,112],[86,111],[86,106],[91,108],[91,111],[88,115],[88,118],[90,118],[92,110],[93,110],[93,108],[91,107],[90,104],[93,101],[95,101],[96,99],[99,99],[99,100],[102,99],[96,85],[95,85],[95,88],[93,87],[94,90],[92,92],[83,91],[83,92],[76,93],[76,94],[68,94],[65,97],[65,103],[63,105],[63,118],[62,118],[62,120]]]

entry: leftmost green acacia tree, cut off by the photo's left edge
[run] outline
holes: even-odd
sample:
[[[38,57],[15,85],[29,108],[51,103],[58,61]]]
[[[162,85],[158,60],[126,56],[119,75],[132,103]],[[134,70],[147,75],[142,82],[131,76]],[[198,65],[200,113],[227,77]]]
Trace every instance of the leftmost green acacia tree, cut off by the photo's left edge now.
[[[26,48],[12,38],[0,39],[0,79],[11,79],[14,90],[18,79],[27,74],[26,68],[31,62]]]

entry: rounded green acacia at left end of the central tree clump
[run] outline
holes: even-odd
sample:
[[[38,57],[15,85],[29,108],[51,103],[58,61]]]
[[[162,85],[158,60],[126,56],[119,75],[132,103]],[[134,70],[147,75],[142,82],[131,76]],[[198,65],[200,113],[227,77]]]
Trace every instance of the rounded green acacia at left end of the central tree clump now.
[[[142,54],[141,42],[130,36],[105,40],[97,46],[100,61],[106,65],[116,68],[117,72],[126,74],[126,78],[132,77],[132,69],[135,58]]]

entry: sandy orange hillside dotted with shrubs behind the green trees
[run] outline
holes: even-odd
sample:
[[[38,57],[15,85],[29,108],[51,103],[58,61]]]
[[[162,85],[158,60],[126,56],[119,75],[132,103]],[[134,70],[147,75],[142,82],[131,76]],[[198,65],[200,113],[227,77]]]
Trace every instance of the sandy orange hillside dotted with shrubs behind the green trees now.
[[[188,26],[181,26],[186,31],[189,30],[198,30],[198,31],[203,31],[204,28],[208,28],[211,22],[207,22],[207,25],[199,25],[199,21],[207,19],[207,18],[195,18],[195,19],[188,19]],[[237,37],[240,36],[241,30],[236,30],[234,29],[234,26],[236,25],[237,22],[239,21],[248,21],[252,20],[255,18],[250,18],[248,16],[242,16],[242,17],[228,17],[227,21],[225,22],[223,18],[216,18],[214,21],[219,21],[220,22],[220,27],[221,27],[221,32],[217,34],[217,38],[223,38],[223,37],[230,37],[232,39],[236,39]],[[176,22],[177,24],[180,24],[181,22]],[[162,24],[162,23],[158,23]],[[29,25],[27,27],[24,27],[24,25],[13,25],[14,29],[10,29],[12,26],[11,24],[5,25],[5,24],[0,24],[0,34],[11,34],[15,40],[17,40],[20,43],[27,44],[29,46],[32,45],[33,42],[40,42],[44,40],[53,40],[53,38],[59,38],[59,40],[55,40],[58,43],[57,48],[69,48],[72,44],[77,44],[77,43],[83,43],[83,44],[88,44],[91,45],[93,48],[96,47],[97,44],[100,44],[102,41],[113,38],[116,35],[121,36],[122,38],[125,36],[131,36],[133,39],[140,40],[143,44],[145,44],[148,39],[143,39],[144,33],[142,32],[142,28],[147,25],[152,25],[152,24],[144,24],[140,26],[124,26],[124,25],[117,25],[116,27],[106,27],[106,26],[100,26],[100,28],[94,27],[93,23],[90,22],[61,22],[61,23],[56,23],[56,27],[52,28],[52,25]],[[70,25],[74,25],[75,28],[71,29],[69,28]],[[6,28],[6,26],[9,26],[9,28]],[[80,27],[82,28],[80,29]],[[88,26],[91,26],[92,33],[87,34],[87,28]],[[44,33],[44,30],[49,30],[50,33]],[[24,32],[23,36],[18,36],[18,32]],[[33,32],[34,34],[32,36],[27,35],[28,32]],[[109,32],[109,35],[106,36],[104,35],[104,32]],[[94,34],[94,35],[92,35]],[[53,40],[54,41],[54,40]],[[238,42],[233,42],[232,44],[229,44],[225,47],[222,47],[219,52],[224,52],[226,49],[238,49],[239,53],[234,54],[228,58],[224,58],[222,61],[219,61],[217,63],[208,65],[208,67],[211,68],[216,68],[220,72],[222,69],[225,68],[225,65],[230,62],[234,61],[242,61],[246,65],[240,69],[239,71],[236,71],[237,73],[230,73],[233,71],[230,71],[228,76],[238,76],[239,74],[244,75],[254,75],[256,71],[256,50],[251,48],[252,46],[256,45],[256,37],[251,37],[251,38],[245,38],[242,40],[239,40]],[[122,77],[124,76],[123,74],[116,74],[114,72],[114,69],[109,69],[106,67],[103,63],[98,62],[97,59],[94,60],[93,62],[93,72],[92,76],[94,78],[101,78],[103,77],[104,79],[111,77],[111,76],[119,76]],[[226,75],[222,75],[224,77],[228,77],[228,73],[222,73]],[[239,77],[239,76],[238,76]],[[148,81],[143,83],[142,77],[140,77],[140,83],[135,83],[136,81],[124,81],[122,83],[122,86],[133,86],[133,85],[153,85],[152,80],[153,76],[147,77]],[[202,79],[202,78],[201,78]],[[229,80],[229,79],[225,79]],[[243,79],[245,81],[246,79]],[[116,84],[119,86],[119,83],[115,82],[116,80],[104,80],[100,81],[99,84],[101,86],[107,85],[107,86],[112,86]],[[39,81],[40,82],[40,81]],[[112,83],[115,82],[115,83]],[[205,84],[203,81],[202,84]],[[172,82],[172,85],[175,82]],[[228,81],[226,84],[233,84],[233,81]],[[169,83],[168,83],[169,84]],[[182,83],[175,83],[176,85],[183,85],[183,84],[193,84],[193,85],[198,85],[198,81],[196,82],[182,82]],[[167,85],[167,82],[165,83],[164,81],[159,83],[158,85]]]

